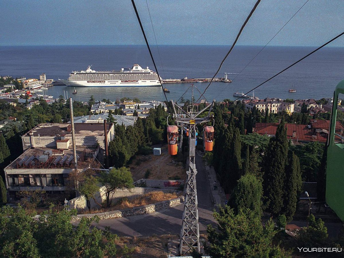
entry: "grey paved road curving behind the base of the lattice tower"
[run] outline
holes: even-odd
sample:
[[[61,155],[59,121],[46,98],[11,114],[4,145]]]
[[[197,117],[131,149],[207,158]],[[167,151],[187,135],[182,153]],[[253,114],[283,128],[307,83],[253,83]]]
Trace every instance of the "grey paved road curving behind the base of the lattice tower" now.
[[[202,158],[196,154],[196,182],[198,197],[198,217],[200,233],[205,233],[208,224],[215,224],[210,185]],[[100,229],[110,227],[119,236],[150,236],[153,234],[180,234],[184,204],[163,209],[159,212],[116,219],[103,219],[96,226]]]

